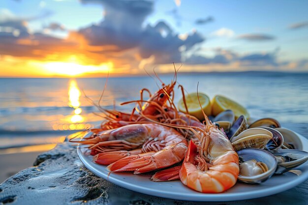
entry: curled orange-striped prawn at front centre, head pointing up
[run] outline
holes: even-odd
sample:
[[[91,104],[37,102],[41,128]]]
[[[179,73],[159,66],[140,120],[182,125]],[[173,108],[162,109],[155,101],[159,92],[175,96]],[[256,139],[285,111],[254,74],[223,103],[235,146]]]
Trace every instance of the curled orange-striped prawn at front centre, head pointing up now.
[[[239,157],[225,134],[207,116],[199,148],[189,142],[180,179],[189,188],[219,193],[231,188],[239,175]]]

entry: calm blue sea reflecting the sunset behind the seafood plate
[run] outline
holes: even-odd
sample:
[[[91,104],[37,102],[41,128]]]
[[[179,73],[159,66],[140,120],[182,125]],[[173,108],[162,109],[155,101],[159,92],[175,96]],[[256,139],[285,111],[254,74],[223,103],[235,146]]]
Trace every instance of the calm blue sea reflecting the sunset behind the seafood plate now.
[[[166,84],[173,77],[160,76]],[[251,117],[276,118],[308,138],[308,73],[180,72],[177,80],[187,92],[195,92],[199,82],[199,92],[229,97],[245,106]],[[98,104],[105,82],[106,78],[0,79],[0,153],[56,145],[69,134],[97,126],[102,117],[93,103]],[[109,78],[100,105],[131,111],[134,104],[120,104],[139,99],[141,88],[154,92],[157,85],[160,81],[149,76]],[[180,97],[176,88],[176,103]]]

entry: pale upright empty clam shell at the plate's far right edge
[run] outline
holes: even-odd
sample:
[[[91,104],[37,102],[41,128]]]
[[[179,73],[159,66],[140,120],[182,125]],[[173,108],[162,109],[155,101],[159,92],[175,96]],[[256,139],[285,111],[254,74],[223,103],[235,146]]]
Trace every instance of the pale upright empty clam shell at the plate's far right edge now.
[[[283,145],[281,148],[303,150],[303,143],[295,132],[281,127],[276,128],[276,130],[283,136]]]

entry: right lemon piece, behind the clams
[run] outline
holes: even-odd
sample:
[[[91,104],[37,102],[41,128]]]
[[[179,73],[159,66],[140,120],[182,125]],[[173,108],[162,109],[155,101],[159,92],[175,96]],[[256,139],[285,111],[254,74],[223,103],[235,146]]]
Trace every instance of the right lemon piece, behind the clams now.
[[[212,99],[212,114],[216,116],[225,110],[232,110],[236,118],[240,117],[241,115],[245,116],[246,119],[249,118],[249,114],[246,108],[244,108],[242,105],[227,97],[215,95]]]

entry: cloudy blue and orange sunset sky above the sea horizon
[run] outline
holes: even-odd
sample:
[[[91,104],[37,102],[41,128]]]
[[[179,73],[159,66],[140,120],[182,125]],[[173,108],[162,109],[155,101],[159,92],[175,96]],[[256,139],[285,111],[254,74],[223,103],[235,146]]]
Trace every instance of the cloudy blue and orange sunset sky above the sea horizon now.
[[[1,0],[0,77],[308,72],[308,1]],[[146,70],[146,71],[145,71]]]

